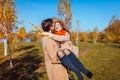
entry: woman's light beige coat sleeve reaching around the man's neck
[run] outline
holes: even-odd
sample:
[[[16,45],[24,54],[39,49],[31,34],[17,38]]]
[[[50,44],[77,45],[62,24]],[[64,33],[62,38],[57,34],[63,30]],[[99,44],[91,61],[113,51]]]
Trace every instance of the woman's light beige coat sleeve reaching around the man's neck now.
[[[52,34],[51,36],[56,41],[68,41],[70,40],[70,34],[67,32],[65,36]]]

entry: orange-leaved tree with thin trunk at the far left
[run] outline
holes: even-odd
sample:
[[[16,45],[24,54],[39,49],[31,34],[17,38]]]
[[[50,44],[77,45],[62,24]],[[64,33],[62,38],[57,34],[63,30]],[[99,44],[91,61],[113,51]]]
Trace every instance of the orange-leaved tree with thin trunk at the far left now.
[[[10,67],[12,67],[12,54],[9,45],[9,37],[11,37],[17,19],[14,0],[0,0],[0,27],[4,31],[7,39],[8,51],[10,54]]]

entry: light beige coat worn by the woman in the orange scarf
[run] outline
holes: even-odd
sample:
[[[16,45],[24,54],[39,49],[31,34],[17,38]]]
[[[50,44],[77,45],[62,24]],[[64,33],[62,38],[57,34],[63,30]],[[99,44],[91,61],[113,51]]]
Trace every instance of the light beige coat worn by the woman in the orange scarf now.
[[[54,40],[58,42],[64,41],[64,43],[60,44],[60,49],[69,49],[71,50],[77,57],[79,56],[79,49],[77,46],[74,46],[72,42],[70,41],[70,33],[66,33],[65,36],[63,35],[56,35],[51,34],[50,37],[52,37]]]

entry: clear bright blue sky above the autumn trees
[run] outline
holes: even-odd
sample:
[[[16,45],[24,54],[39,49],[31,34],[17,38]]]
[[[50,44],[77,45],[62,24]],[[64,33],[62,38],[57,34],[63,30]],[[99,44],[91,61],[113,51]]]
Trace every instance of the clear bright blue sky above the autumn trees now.
[[[58,17],[57,7],[59,0],[15,0],[18,20],[24,20],[27,32],[33,27],[40,26],[42,20]],[[72,0],[72,29],[92,31],[95,27],[103,31],[109,24],[112,16],[120,19],[120,0]],[[80,26],[76,24],[79,21]],[[20,25],[19,27],[22,27]]]

